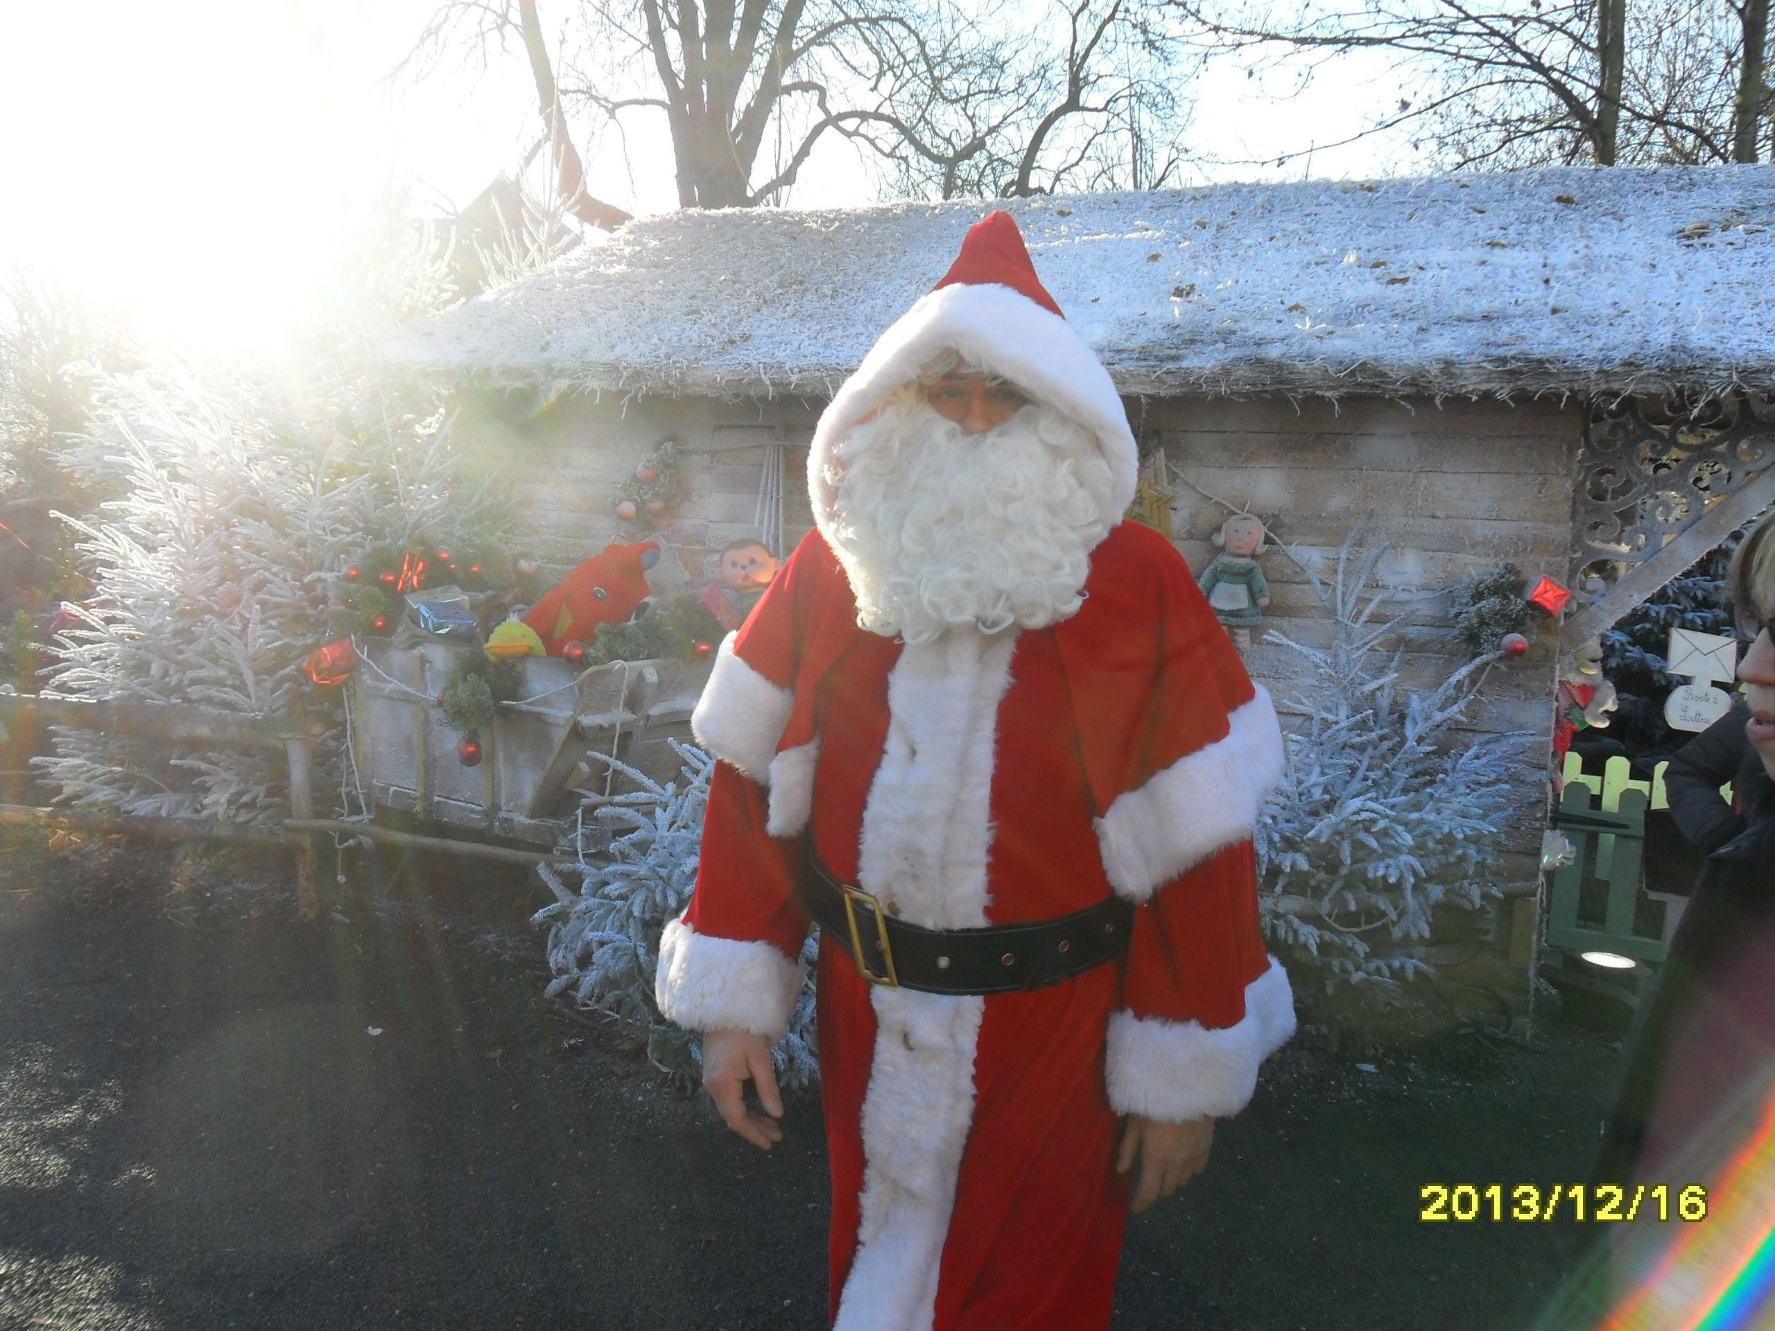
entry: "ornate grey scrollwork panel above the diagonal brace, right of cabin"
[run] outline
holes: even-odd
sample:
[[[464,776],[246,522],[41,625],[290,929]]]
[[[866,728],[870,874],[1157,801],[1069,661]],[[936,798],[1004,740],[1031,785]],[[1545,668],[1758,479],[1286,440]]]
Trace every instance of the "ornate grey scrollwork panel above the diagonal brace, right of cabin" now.
[[[1674,392],[1592,405],[1578,454],[1573,580],[1619,580],[1771,465],[1768,394]]]

